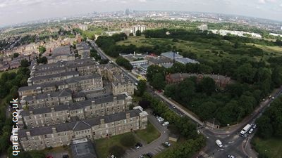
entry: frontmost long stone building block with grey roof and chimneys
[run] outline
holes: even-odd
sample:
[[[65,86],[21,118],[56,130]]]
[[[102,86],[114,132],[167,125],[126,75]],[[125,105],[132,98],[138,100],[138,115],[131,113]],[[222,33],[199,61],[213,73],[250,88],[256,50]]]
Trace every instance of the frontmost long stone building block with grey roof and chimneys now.
[[[18,131],[20,146],[25,151],[43,150],[46,147],[70,145],[73,139],[90,138],[94,140],[145,129],[147,115],[147,112],[142,111],[142,107],[137,107],[128,112],[118,112],[84,121],[21,129]]]

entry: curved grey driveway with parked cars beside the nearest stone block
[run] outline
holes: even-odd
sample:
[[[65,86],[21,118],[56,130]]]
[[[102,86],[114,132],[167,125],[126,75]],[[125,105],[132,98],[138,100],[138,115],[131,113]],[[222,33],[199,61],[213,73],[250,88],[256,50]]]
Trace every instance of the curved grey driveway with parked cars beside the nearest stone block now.
[[[168,129],[166,129],[166,126],[161,126],[159,121],[157,121],[157,119],[152,116],[152,114],[149,114],[148,119],[161,133],[161,136],[157,140],[154,140],[152,143],[143,145],[143,147],[140,147],[140,149],[138,150],[136,150],[135,148],[127,150],[123,158],[138,158],[141,154],[146,154],[147,152],[151,152],[155,155],[165,149],[162,143],[168,141]]]

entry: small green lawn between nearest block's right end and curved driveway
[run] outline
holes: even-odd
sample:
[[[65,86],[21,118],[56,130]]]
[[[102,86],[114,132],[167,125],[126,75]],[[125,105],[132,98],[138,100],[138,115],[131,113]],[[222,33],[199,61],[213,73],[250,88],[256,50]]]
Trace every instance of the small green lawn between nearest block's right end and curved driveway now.
[[[161,136],[161,133],[148,121],[147,129],[136,131],[136,135],[146,143],[151,143]]]

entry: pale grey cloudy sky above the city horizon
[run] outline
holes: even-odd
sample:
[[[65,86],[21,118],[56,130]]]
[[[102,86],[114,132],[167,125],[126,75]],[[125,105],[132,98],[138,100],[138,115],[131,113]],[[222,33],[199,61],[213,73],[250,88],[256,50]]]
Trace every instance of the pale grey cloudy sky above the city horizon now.
[[[0,27],[80,13],[199,11],[282,21],[282,0],[0,0]]]

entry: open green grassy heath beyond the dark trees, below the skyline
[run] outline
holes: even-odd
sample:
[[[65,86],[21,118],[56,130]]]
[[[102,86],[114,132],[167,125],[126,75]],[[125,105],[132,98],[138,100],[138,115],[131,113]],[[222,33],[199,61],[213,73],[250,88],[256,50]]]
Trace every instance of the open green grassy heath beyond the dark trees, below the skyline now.
[[[229,58],[238,60],[240,58],[252,58],[253,60],[267,60],[270,55],[280,56],[282,55],[282,47],[278,46],[262,46],[262,45],[255,45],[258,48],[262,48],[266,55],[262,57],[255,56],[250,57],[249,55],[240,55],[240,54],[229,54],[225,51],[221,50],[219,46],[214,46],[209,43],[200,43],[195,41],[183,41],[180,40],[178,42],[173,42],[171,39],[159,39],[159,38],[150,38],[146,39],[145,37],[128,37],[128,40],[125,41],[118,41],[118,45],[125,45],[128,46],[133,44],[137,47],[140,46],[155,46],[158,44],[159,46],[168,46],[171,47],[176,46],[176,48],[182,50],[180,53],[195,53],[198,58],[204,58],[206,60],[211,61],[218,61],[221,58]],[[214,53],[217,52],[217,53]]]

